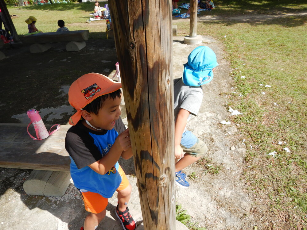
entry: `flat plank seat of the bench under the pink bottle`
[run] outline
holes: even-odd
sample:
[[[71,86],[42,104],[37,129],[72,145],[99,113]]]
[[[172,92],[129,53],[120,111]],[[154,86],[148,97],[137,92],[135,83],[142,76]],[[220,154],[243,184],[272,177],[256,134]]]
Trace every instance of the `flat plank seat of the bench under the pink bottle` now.
[[[0,123],[0,167],[69,171],[65,136],[70,127],[61,125],[46,139],[33,140],[27,133],[27,124]],[[33,125],[29,130],[35,136]]]

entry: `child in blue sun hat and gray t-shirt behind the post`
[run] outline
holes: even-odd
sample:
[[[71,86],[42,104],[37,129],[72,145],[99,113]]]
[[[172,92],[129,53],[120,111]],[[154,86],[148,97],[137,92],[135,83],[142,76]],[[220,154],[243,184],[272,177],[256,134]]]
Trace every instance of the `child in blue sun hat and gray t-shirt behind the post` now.
[[[219,64],[208,46],[195,48],[184,64],[182,79],[174,80],[175,164],[176,184],[188,188],[187,175],[181,170],[200,159],[207,151],[206,144],[186,129],[191,115],[197,116],[203,100],[201,85],[211,82]]]

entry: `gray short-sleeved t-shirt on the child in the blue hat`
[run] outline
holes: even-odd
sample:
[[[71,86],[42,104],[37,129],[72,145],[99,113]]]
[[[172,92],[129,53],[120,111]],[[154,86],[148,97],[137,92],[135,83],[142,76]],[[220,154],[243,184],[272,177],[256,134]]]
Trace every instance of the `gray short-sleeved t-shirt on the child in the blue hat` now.
[[[191,114],[187,122],[190,120],[191,115],[197,116],[203,100],[203,90],[200,86],[186,86],[181,78],[174,80],[174,115],[175,123],[180,108],[189,111]],[[184,132],[187,129],[185,128]]]

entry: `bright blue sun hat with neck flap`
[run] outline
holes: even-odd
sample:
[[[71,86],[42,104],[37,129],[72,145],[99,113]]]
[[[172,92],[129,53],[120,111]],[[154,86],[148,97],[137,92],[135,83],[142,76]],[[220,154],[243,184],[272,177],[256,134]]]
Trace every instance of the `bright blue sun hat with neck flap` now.
[[[182,80],[187,86],[201,86],[213,79],[212,69],[218,66],[216,55],[208,46],[196,47],[184,64]]]

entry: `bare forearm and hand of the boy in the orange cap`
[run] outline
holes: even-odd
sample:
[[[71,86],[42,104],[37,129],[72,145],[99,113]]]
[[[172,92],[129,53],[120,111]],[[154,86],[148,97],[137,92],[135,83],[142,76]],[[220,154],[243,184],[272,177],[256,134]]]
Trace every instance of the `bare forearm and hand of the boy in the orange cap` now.
[[[106,174],[118,161],[123,151],[131,149],[131,142],[129,136],[129,130],[118,135],[107,155],[103,156],[100,160],[90,164],[92,170],[99,174]]]

